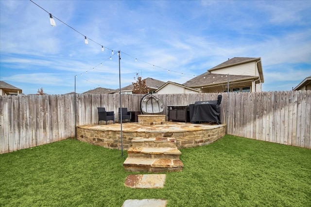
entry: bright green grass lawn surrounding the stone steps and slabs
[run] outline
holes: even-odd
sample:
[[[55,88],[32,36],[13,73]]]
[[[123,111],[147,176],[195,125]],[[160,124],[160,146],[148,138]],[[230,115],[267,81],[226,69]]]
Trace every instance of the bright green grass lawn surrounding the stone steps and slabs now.
[[[311,206],[311,150],[226,135],[181,149],[182,172],[163,189],[131,189],[120,150],[65,140],[0,155],[0,206],[121,207],[166,199],[168,207]],[[126,152],[124,152],[126,156]]]

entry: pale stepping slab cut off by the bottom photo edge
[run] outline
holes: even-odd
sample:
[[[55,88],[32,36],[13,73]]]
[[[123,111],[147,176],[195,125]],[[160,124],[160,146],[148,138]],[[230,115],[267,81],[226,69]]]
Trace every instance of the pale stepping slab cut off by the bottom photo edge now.
[[[161,199],[129,199],[124,201],[122,207],[166,207],[167,201]]]

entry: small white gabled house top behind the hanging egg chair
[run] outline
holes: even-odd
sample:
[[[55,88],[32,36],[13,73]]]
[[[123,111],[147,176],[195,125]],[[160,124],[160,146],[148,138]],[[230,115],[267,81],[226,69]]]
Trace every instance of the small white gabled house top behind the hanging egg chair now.
[[[156,94],[198,94],[200,90],[196,90],[182,84],[175,82],[167,81],[164,85],[159,87],[156,91]]]

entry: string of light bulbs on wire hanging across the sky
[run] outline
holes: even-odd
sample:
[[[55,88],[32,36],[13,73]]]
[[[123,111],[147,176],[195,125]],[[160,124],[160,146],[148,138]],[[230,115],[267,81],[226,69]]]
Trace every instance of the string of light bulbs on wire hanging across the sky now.
[[[34,3],[36,6],[38,6],[39,8],[41,8],[41,9],[42,9],[43,11],[45,11],[46,13],[51,14],[51,13],[48,12],[46,9],[44,9],[43,7],[41,7],[40,5],[38,5],[37,3],[35,3],[33,0],[30,0],[30,1],[31,1],[32,3]],[[52,14],[51,14],[51,15],[52,15]],[[111,49],[111,48],[107,48],[107,47],[105,47],[104,45],[99,44],[98,42],[94,41],[93,39],[87,37],[87,35],[85,35],[85,34],[79,32],[79,31],[77,31],[76,29],[74,29],[73,27],[71,27],[70,25],[68,25],[67,23],[65,23],[64,21],[62,21],[61,19],[57,18],[56,16],[53,16],[53,15],[52,15],[52,17],[54,17],[54,18],[57,19],[58,21],[62,22],[63,24],[65,24],[66,26],[68,26],[68,27],[69,27],[70,29],[72,29],[73,31],[75,31],[75,32],[81,34],[82,36],[86,37],[88,40],[94,42],[95,44],[97,44],[97,45],[99,45],[99,46],[102,46],[102,48],[106,48],[106,49],[108,49],[108,50],[111,50],[111,51],[113,52],[113,54],[112,54],[111,56],[115,55],[118,51],[120,51],[120,50],[114,50],[114,49]],[[129,57],[135,58],[134,56],[132,56],[132,55],[130,55],[130,54],[127,54],[127,53],[125,53],[125,52],[122,52],[122,51],[120,51],[120,52],[123,53],[124,55],[127,55],[127,56],[129,56]],[[107,58],[106,60],[111,59],[111,56],[110,56],[109,58]],[[96,68],[97,66],[103,64],[106,60],[104,60],[102,63],[100,63],[100,64],[94,66],[92,69],[94,69],[94,68]],[[155,64],[148,63],[148,62],[143,61],[143,60],[138,59],[138,58],[135,58],[135,60],[136,60],[136,61],[139,61],[139,62],[142,62],[142,63],[145,63],[145,64],[152,65],[154,68],[157,67],[157,68],[166,70],[166,71],[168,71],[169,73],[170,73],[170,72],[173,72],[173,73],[179,73],[179,74],[181,74],[182,76],[185,75],[185,76],[195,77],[195,75],[191,75],[191,74],[187,74],[187,73],[180,73],[180,72],[178,72],[178,71],[170,70],[170,69],[167,69],[167,68],[164,68],[164,67],[155,65]],[[89,71],[89,70],[86,70],[86,72],[81,73],[80,75],[86,74],[88,71]],[[77,76],[77,75],[76,75],[76,76]]]

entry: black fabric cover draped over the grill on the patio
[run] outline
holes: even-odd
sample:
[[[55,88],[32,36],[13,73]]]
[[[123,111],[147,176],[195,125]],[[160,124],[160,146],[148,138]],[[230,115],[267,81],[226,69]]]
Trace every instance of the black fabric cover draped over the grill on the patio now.
[[[222,97],[218,96],[218,100],[213,101],[197,101],[189,105],[190,122],[215,122],[221,124],[220,121],[220,103]]]

